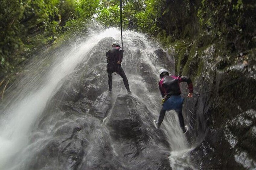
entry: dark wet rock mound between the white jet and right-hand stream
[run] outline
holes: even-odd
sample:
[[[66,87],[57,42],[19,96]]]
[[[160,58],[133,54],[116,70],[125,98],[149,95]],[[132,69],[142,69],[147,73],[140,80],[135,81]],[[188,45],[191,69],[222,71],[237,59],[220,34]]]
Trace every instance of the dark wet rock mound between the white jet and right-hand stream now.
[[[143,100],[107,90],[106,44],[113,41],[101,40],[62,82],[30,137],[35,152],[24,169],[171,169],[169,143]],[[154,74],[146,64],[136,71],[155,82],[146,70]]]

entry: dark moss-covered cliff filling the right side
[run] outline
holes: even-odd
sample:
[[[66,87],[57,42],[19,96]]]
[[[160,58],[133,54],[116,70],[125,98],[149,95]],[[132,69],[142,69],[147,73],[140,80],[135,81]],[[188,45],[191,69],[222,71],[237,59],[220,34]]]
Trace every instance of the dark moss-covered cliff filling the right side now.
[[[209,91],[184,104],[200,169],[256,166],[255,7],[241,0],[166,1],[159,18],[156,34],[174,56],[175,73],[192,78],[195,94]]]

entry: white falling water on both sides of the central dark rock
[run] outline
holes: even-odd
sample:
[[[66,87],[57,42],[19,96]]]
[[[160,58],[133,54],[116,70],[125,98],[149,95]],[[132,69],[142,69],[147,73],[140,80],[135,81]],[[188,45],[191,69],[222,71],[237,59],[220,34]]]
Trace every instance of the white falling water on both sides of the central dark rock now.
[[[8,100],[5,102],[5,108],[3,108],[0,122],[0,169],[21,168],[12,160],[17,156],[19,159],[28,158],[25,154],[32,155],[33,151],[27,149],[24,153],[24,148],[29,148],[29,145],[43,144],[31,144],[29,140],[31,131],[35,130],[35,123],[40,121],[41,114],[61,88],[66,77],[74,73],[81,63],[86,65],[87,61],[94,57],[91,50],[106,37],[120,39],[119,30],[114,28],[104,31],[89,30],[87,37],[80,37],[76,42],[66,45],[65,48],[59,48],[44,56],[43,59],[39,59],[40,61],[37,60],[30,64],[28,73],[18,82],[17,87],[13,88],[14,92],[9,92]],[[158,92],[158,75],[156,73],[161,67],[169,65],[159,60],[155,54],[155,50],[158,49],[157,46],[148,41],[144,35],[127,31],[124,39],[125,51],[122,67],[128,77],[130,88],[157,119],[161,98]],[[138,56],[140,57],[138,58]],[[141,63],[145,63],[151,69],[150,75],[140,73]],[[142,76],[149,76],[150,81],[142,81]],[[120,85],[115,89],[120,88],[120,93],[124,93],[121,79],[114,77],[113,81]],[[149,85],[152,85],[152,88],[149,88]],[[116,98],[117,94],[114,96]],[[175,165],[179,164],[177,161],[179,156],[184,155],[184,150],[189,150],[187,150],[188,144],[179,127],[176,113],[166,113],[162,130],[165,132],[172,150],[174,150],[169,158],[170,162]],[[48,138],[51,137],[47,136],[44,140],[48,140]],[[183,151],[179,152],[179,150]],[[181,164],[184,164],[184,161]]]

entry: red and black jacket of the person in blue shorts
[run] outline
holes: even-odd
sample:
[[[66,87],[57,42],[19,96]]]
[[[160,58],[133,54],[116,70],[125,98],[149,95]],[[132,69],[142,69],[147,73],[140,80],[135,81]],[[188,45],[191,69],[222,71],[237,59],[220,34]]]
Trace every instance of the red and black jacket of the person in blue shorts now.
[[[159,82],[159,89],[162,94],[162,97],[165,95],[180,95],[180,83],[187,82],[189,93],[193,93],[193,84],[189,77],[186,76],[165,76]]]

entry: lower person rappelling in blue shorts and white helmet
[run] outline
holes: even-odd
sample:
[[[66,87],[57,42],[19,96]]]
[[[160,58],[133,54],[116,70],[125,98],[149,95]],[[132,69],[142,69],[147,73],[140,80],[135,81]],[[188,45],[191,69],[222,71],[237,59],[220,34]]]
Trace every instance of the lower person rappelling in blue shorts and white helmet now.
[[[164,117],[165,112],[169,110],[175,110],[178,113],[179,122],[183,133],[188,131],[188,126],[184,125],[184,118],[182,116],[182,104],[184,98],[180,96],[181,89],[180,83],[187,82],[189,93],[187,97],[193,97],[193,84],[189,77],[186,76],[169,76],[169,72],[166,69],[159,70],[160,75],[160,82],[159,82],[159,89],[162,94],[162,109],[160,111],[160,115],[158,121],[154,120],[154,125],[156,128],[160,128]]]

